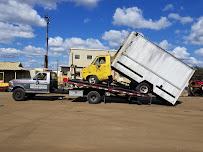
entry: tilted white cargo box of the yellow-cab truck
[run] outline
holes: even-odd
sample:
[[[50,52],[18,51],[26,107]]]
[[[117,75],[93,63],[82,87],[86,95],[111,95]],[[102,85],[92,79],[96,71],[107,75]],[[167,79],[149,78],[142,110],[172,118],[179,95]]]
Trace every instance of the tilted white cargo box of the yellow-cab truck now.
[[[135,32],[115,55],[112,67],[138,83],[150,83],[155,94],[172,104],[176,103],[195,71]]]

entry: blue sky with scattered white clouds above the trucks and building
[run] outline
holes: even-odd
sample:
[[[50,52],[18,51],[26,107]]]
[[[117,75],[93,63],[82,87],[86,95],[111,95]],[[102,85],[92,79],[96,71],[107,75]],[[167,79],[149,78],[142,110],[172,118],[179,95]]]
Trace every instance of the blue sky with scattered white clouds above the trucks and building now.
[[[48,14],[51,69],[71,47],[116,50],[132,31],[203,66],[202,10],[202,0],[0,0],[0,61],[43,67]]]

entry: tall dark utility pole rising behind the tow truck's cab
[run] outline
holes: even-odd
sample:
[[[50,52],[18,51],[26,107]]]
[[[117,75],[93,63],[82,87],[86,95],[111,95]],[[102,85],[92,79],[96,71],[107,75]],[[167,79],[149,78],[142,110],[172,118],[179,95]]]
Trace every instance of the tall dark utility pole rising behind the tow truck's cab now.
[[[46,26],[46,54],[44,56],[44,69],[48,70],[48,50],[49,50],[49,23],[50,23],[50,17],[46,15],[44,17],[47,26]]]

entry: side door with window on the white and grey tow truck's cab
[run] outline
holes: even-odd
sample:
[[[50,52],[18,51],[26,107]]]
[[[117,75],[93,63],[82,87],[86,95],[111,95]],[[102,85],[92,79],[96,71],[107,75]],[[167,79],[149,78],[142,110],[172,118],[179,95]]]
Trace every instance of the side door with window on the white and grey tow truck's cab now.
[[[33,83],[30,84],[30,91],[33,91],[36,93],[37,92],[48,93],[49,82],[50,82],[49,73],[40,72],[33,78]]]

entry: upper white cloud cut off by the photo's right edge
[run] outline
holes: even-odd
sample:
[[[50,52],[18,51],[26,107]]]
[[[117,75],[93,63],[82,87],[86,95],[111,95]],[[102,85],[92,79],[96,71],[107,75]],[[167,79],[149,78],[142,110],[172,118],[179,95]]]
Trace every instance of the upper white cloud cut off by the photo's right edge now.
[[[192,44],[203,45],[203,16],[192,25],[190,34],[185,39]]]

